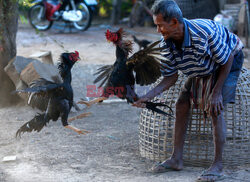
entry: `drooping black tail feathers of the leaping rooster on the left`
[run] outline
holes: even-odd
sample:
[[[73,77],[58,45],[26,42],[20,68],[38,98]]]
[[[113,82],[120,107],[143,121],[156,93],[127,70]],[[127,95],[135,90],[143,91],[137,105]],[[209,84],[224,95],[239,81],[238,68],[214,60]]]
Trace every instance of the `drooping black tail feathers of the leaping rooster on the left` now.
[[[22,133],[37,131],[40,132],[47,125],[49,119],[45,118],[44,114],[37,114],[33,119],[22,125],[16,132],[16,137],[21,137]]]

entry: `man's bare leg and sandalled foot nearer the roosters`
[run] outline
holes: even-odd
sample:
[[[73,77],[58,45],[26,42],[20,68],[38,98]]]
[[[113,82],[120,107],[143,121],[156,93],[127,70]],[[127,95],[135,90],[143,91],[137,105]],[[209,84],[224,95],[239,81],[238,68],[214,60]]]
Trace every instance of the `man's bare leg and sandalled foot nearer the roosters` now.
[[[183,146],[190,116],[190,92],[182,92],[176,103],[176,121],[174,127],[174,149],[172,156],[153,168],[153,172],[164,172],[165,168],[181,170],[183,168]],[[165,166],[165,167],[164,167]]]

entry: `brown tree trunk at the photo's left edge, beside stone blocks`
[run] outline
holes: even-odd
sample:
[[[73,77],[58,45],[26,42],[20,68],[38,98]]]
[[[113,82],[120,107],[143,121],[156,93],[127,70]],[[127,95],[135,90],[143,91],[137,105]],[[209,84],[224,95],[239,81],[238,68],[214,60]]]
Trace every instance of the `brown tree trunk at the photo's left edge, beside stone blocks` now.
[[[0,106],[9,105],[18,98],[11,94],[14,84],[4,67],[16,56],[18,0],[0,0]]]

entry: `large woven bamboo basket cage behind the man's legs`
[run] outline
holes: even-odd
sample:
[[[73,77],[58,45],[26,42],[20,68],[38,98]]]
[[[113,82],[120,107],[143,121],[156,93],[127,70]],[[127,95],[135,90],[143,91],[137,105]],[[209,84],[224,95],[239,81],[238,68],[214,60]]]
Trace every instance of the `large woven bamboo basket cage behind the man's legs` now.
[[[250,164],[250,71],[242,69],[236,89],[235,104],[227,104],[224,118],[227,123],[224,165]],[[175,102],[186,77],[181,74],[174,86],[154,101],[167,102],[175,112]],[[159,83],[159,81],[157,82]],[[156,84],[157,84],[156,83]],[[161,108],[170,112],[168,108]],[[208,166],[214,156],[211,119],[203,119],[200,109],[191,109],[191,120],[184,145],[184,164]],[[173,117],[143,109],[139,121],[139,150],[142,157],[154,161],[169,158],[173,148]]]

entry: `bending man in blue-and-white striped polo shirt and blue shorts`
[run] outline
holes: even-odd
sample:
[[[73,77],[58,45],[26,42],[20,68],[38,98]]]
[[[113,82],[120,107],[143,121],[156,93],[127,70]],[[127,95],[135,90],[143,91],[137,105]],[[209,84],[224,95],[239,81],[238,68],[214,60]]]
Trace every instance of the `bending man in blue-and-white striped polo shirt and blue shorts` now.
[[[237,79],[243,64],[242,43],[236,35],[211,20],[184,19],[173,0],[155,1],[152,12],[157,31],[162,34],[161,47],[166,48],[164,55],[167,61],[162,61],[164,78],[134,106],[145,107],[145,101],[174,85],[178,70],[188,76],[176,103],[173,154],[170,159],[156,165],[153,172],[183,168],[183,145],[192,96],[195,104],[201,102],[198,105],[203,105],[202,109],[212,117],[214,130],[214,161],[198,180],[219,180],[223,177],[222,153],[226,138],[223,105],[234,102]],[[197,89],[205,89],[207,95],[196,94],[200,93]]]

